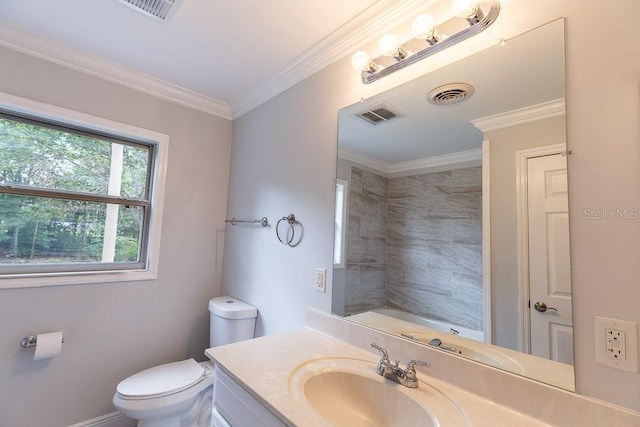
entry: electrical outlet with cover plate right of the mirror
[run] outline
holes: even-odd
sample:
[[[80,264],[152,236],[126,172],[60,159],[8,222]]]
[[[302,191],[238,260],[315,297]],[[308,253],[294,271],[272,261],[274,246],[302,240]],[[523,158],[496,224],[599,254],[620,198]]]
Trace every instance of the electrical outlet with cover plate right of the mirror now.
[[[595,317],[596,363],[638,372],[638,324],[608,317]]]

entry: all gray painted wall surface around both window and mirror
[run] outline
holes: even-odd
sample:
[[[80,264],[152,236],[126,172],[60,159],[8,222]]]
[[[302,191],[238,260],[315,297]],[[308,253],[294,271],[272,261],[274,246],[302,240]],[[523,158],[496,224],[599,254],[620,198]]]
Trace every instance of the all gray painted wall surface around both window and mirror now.
[[[594,316],[640,321],[640,228],[582,215],[640,206],[637,16],[636,0],[609,8],[595,0],[511,0],[491,33],[509,38],[567,19],[576,386],[640,410],[638,374],[597,365],[593,356]],[[228,211],[272,223],[294,212],[305,226],[295,249],[279,246],[272,227],[223,231],[228,122],[1,50],[0,90],[167,133],[172,143],[157,281],[0,291],[0,425],[59,426],[106,414],[121,378],[202,358],[223,236],[224,292],[258,307],[259,334],[302,326],[309,306],[329,311],[331,285],[320,294],[312,283],[314,268],[332,260],[338,109],[494,42],[461,44],[366,88],[344,58],[234,122]],[[68,339],[61,357],[35,366],[18,343],[43,327]]]

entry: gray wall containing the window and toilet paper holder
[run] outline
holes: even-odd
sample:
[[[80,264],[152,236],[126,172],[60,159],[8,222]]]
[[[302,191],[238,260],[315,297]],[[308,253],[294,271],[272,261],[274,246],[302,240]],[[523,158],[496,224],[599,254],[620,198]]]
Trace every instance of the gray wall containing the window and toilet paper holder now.
[[[205,360],[220,295],[231,123],[0,49],[0,91],[168,134],[158,279],[0,290],[0,425],[67,426],[115,411],[117,383],[159,363]],[[33,361],[25,335],[62,330]]]

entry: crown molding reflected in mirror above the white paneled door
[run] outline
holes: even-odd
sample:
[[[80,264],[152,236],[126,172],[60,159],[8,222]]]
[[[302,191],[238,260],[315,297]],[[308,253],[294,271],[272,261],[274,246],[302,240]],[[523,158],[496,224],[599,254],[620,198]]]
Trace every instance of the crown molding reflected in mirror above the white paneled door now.
[[[495,114],[476,120],[471,120],[476,128],[482,132],[504,129],[511,126],[531,123],[538,120],[550,119],[565,114],[564,98],[543,102],[542,104],[519,108],[506,113]]]

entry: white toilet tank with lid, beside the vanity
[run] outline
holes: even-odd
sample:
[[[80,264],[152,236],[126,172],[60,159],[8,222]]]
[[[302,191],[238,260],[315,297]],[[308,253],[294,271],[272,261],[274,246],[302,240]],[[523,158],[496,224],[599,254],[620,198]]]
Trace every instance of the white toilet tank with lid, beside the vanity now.
[[[258,309],[233,297],[209,300],[209,345],[231,344],[254,337]]]

